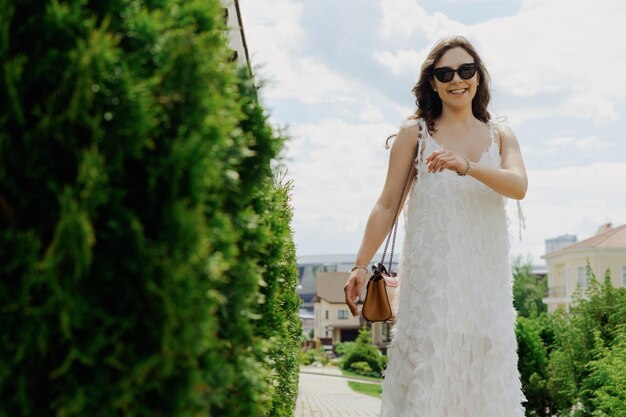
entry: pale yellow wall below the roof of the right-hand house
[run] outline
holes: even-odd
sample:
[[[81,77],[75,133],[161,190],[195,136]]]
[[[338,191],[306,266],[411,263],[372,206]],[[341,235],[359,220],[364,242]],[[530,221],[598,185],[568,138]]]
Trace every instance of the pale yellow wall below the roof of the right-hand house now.
[[[626,248],[577,249],[563,251],[555,256],[548,255],[548,295],[543,299],[548,305],[548,312],[567,308],[579,282],[582,286],[586,285],[587,260],[596,279],[603,280],[609,269],[613,286],[626,286]]]

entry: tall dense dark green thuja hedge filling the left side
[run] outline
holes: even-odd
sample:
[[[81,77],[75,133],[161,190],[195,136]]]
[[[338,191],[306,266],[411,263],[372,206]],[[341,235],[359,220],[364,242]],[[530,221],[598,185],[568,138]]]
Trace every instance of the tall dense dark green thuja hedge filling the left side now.
[[[1,3],[0,415],[289,415],[281,140],[217,0]]]

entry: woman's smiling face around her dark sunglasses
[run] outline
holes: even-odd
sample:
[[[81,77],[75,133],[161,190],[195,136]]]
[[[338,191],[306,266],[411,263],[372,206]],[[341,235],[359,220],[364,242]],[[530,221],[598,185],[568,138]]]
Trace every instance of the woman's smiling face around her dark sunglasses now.
[[[467,64],[474,64],[474,58],[472,58],[465,49],[456,47],[448,49],[443,54],[441,59],[435,63],[435,70],[444,67],[457,70],[462,65],[464,66],[462,68],[467,69]],[[440,72],[443,71],[440,70]],[[471,73],[471,70],[463,72],[465,72],[467,76],[468,73]],[[469,79],[463,79],[461,75],[455,72],[449,82],[442,82],[435,76],[431,78],[432,87],[437,91],[437,94],[439,94],[444,106],[453,109],[461,109],[472,105],[472,99],[476,95],[476,89],[479,83],[478,71]]]

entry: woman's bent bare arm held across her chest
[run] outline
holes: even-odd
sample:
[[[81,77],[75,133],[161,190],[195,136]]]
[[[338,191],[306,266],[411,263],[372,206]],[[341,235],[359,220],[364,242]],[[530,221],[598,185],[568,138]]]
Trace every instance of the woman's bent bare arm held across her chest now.
[[[500,168],[470,162],[468,175],[505,197],[521,200],[526,196],[528,177],[519,143],[513,131],[508,127],[500,130],[499,136],[502,156]],[[465,159],[447,150],[433,152],[426,158],[426,163],[431,172],[440,172],[444,169],[463,172],[466,169]]]

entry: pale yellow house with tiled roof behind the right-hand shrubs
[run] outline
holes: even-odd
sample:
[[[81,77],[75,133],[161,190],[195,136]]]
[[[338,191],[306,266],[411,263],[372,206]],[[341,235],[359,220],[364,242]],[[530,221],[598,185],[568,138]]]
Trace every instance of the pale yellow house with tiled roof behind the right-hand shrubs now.
[[[587,261],[596,278],[611,271],[615,287],[626,287],[626,225],[611,223],[598,229],[595,236],[543,255],[548,267],[548,293],[543,302],[548,312],[567,308],[578,286],[587,286]]]

